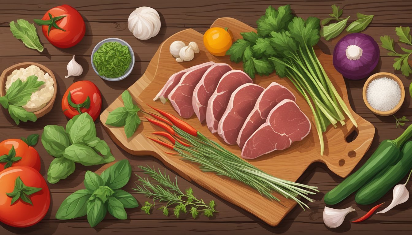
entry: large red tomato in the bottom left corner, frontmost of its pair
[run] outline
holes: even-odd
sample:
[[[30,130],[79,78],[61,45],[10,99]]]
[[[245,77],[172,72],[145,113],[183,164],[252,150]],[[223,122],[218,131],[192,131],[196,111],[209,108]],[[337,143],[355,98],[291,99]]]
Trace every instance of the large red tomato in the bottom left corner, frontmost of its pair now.
[[[20,177],[23,184],[19,187],[16,179]],[[50,206],[50,191],[46,181],[35,169],[27,166],[10,167],[0,172],[0,222],[9,226],[24,228],[38,223],[46,215]],[[17,186],[17,187],[15,187]],[[26,188],[34,187],[34,188]],[[16,189],[15,189],[16,188]],[[20,188],[20,189],[19,189]],[[33,190],[24,191],[23,189]],[[41,188],[40,191],[38,188]],[[26,195],[26,201],[30,200],[33,205],[23,200],[19,195],[14,199],[13,195]]]

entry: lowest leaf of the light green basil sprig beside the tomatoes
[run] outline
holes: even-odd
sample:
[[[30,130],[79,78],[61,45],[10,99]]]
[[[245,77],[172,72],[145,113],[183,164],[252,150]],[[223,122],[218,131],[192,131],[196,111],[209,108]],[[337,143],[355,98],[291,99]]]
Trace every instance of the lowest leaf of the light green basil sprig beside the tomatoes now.
[[[66,158],[54,158],[47,170],[47,181],[56,184],[61,179],[66,179],[75,171],[75,163]]]

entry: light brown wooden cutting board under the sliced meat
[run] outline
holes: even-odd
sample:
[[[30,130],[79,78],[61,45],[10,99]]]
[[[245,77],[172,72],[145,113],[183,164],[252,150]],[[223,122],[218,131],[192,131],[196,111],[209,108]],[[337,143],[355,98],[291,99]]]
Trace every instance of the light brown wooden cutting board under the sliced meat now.
[[[250,32],[255,29],[232,18],[217,19],[211,27],[229,27],[232,30],[234,39],[241,38],[241,32]],[[188,44],[191,41],[199,45],[200,53],[196,54],[192,61],[183,63],[176,62],[175,58],[169,53],[169,46],[175,40],[181,40]],[[280,79],[276,74],[270,76],[257,76],[254,82],[262,87],[267,87],[272,81],[276,81],[283,86],[288,87],[296,96],[296,103],[302,111],[311,119],[311,132],[304,140],[294,142],[292,146],[283,151],[274,151],[270,154],[262,156],[254,160],[247,160],[261,170],[290,181],[296,181],[307,167],[316,161],[325,163],[330,170],[341,177],[346,177],[363,157],[369,149],[372,138],[375,134],[375,128],[371,123],[365,121],[355,112],[350,109],[348,94],[346,92],[345,82],[341,74],[339,74],[332,65],[332,56],[323,54],[320,49],[317,49],[318,58],[325,68],[329,78],[335,85],[338,93],[345,100],[349,110],[353,114],[358,123],[358,128],[355,128],[349,119],[346,120],[347,125],[332,126],[324,133],[325,152],[320,155],[320,146],[318,135],[314,128],[314,119],[309,108],[309,105],[295,89],[293,84],[288,79]],[[155,95],[163,87],[169,77],[180,70],[201,64],[207,61],[216,63],[228,63],[234,69],[242,70],[242,64],[232,63],[229,56],[217,57],[208,53],[203,44],[203,35],[193,29],[183,30],[166,39],[157,50],[155,56],[150,61],[145,74],[142,77],[127,79],[138,79],[128,90],[133,96],[133,99],[142,109],[152,112],[147,105],[178,114],[173,110],[170,102],[162,104],[160,101],[153,101]],[[142,122],[136,133],[126,138],[123,128],[106,126],[104,123],[107,120],[109,112],[117,107],[123,106],[121,97],[117,98],[100,116],[101,122],[105,130],[109,133],[112,140],[122,147],[127,152],[134,155],[152,155],[162,161],[168,168],[176,171],[179,175],[189,181],[195,181],[197,184],[212,191],[221,198],[239,206],[248,212],[254,214],[271,226],[277,226],[281,219],[292,209],[296,203],[293,200],[287,200],[280,195],[276,197],[281,199],[281,202],[270,201],[262,197],[254,189],[227,177],[217,176],[211,172],[201,172],[198,166],[194,163],[182,161],[178,156],[165,154],[164,151],[170,151],[158,144],[148,140],[145,136],[150,135],[155,130],[160,130],[148,122]],[[143,116],[143,113],[140,114]],[[208,131],[207,126],[201,125],[196,116],[187,119],[187,122],[197,128],[206,137],[222,143],[234,154],[240,156],[241,150],[237,146],[229,146],[225,144],[218,135],[213,135]],[[358,136],[352,142],[346,142],[346,137],[355,130]]]

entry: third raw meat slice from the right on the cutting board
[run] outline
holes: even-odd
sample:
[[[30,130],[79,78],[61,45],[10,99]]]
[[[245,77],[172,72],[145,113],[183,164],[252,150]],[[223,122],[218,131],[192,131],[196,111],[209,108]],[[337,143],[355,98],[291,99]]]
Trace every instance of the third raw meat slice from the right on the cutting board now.
[[[256,84],[243,84],[232,93],[218,124],[218,134],[226,143],[236,144],[239,131],[263,90]]]

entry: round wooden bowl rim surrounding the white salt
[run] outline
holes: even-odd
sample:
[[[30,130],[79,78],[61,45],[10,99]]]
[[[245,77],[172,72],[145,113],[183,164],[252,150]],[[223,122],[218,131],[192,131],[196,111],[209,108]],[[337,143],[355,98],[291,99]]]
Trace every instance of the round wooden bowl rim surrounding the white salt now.
[[[399,100],[399,103],[393,109],[388,110],[388,111],[379,111],[379,110],[376,110],[376,109],[372,108],[372,106],[369,105],[368,100],[366,99],[366,89],[368,88],[369,84],[373,80],[375,80],[377,78],[381,78],[381,77],[387,77],[387,78],[395,80],[398,83],[399,87],[400,87],[400,100]],[[377,114],[379,116],[390,116],[390,115],[395,114],[400,109],[400,106],[402,106],[404,100],[405,100],[405,88],[403,87],[402,81],[400,81],[398,76],[396,76],[395,74],[391,74],[389,72],[375,73],[372,76],[370,76],[368,78],[368,80],[366,80],[365,85],[363,85],[363,101],[365,102],[366,107],[368,107],[368,109],[370,109],[370,111],[372,111],[374,114]]]

